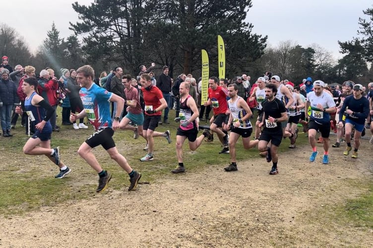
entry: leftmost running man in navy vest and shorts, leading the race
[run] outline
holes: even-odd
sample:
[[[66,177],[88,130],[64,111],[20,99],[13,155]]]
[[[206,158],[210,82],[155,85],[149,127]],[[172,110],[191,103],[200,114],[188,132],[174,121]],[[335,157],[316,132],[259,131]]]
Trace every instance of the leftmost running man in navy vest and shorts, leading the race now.
[[[37,88],[38,80],[35,77],[24,78],[22,82],[22,91],[26,94],[24,108],[30,119],[30,127],[35,126],[36,131],[23,146],[23,152],[27,155],[46,155],[60,167],[60,173],[55,178],[61,179],[70,174],[71,170],[61,161],[60,147],[51,149],[52,125],[49,119],[55,109],[36,93]],[[23,114],[20,106],[15,108],[15,112],[20,116]]]

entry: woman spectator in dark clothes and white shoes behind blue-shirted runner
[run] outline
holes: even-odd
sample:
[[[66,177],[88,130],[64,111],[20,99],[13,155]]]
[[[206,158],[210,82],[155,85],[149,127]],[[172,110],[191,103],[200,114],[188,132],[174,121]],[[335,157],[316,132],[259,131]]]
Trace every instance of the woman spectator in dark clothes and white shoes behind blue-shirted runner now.
[[[70,70],[70,76],[67,78],[67,92],[68,96],[70,98],[70,105],[71,105],[71,113],[80,113],[83,108],[82,101],[79,96],[79,90],[80,85],[76,82],[76,71],[74,69]],[[74,121],[72,127],[77,130],[79,128],[81,129],[87,129],[88,126],[84,124],[84,118],[80,119],[80,124],[76,124],[76,121]]]

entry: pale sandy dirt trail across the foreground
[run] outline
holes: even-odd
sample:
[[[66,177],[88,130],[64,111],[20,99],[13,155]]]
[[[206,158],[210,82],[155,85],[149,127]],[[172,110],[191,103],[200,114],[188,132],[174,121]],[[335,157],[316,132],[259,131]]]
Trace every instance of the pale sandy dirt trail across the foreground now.
[[[311,164],[310,148],[298,147],[280,154],[275,176],[258,157],[238,172],[210,166],[133,192],[109,187],[89,200],[1,218],[0,246],[369,247],[373,230],[318,219],[323,208],[362,193],[345,179],[372,179],[373,147],[366,140],[362,147],[356,160],[331,150],[329,165],[321,153]]]

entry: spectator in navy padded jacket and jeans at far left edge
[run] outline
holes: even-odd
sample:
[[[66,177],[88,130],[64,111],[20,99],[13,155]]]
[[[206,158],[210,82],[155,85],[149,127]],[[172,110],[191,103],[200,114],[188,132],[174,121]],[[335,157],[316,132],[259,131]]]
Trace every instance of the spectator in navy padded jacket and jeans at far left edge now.
[[[11,112],[13,106],[19,105],[17,95],[17,86],[9,79],[9,70],[1,69],[0,71],[0,114],[1,114],[1,129],[2,136],[13,136],[10,132]]]

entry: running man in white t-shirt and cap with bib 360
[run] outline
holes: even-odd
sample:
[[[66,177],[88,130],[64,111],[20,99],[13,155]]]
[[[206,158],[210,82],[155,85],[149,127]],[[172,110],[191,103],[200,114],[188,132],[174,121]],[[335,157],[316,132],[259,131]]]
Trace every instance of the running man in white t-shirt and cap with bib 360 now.
[[[310,118],[308,124],[308,139],[312,147],[310,162],[313,162],[318,154],[316,148],[316,132],[321,132],[324,146],[323,164],[329,163],[329,134],[330,134],[330,114],[335,113],[335,103],[333,97],[324,92],[325,83],[321,80],[313,82],[313,91],[307,94],[305,109],[311,106],[311,116],[306,112],[306,118]]]

